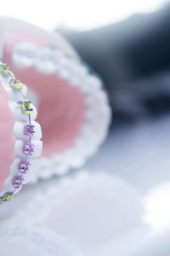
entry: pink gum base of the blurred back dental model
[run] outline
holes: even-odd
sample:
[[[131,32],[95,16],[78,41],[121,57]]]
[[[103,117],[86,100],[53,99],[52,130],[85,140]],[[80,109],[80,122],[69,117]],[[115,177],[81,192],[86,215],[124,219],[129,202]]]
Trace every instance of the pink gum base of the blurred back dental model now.
[[[8,27],[5,34],[3,61],[14,74],[38,96],[37,122],[42,126],[42,156],[64,151],[72,146],[84,121],[84,98],[77,88],[57,74],[46,75],[34,68],[14,66],[11,55],[15,44],[31,42],[37,46],[48,44],[36,33],[18,27]]]

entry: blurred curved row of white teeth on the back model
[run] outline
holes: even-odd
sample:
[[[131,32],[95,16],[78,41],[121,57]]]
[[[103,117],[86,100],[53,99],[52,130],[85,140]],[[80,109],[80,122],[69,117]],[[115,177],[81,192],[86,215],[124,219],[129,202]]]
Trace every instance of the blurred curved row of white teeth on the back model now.
[[[65,56],[59,49],[37,48],[34,44],[20,42],[14,47],[12,60],[19,68],[34,67],[40,73],[58,74],[81,90],[86,104],[85,122],[74,145],[50,158],[42,157],[35,168],[35,180],[53,174],[65,175],[70,168],[81,167],[105,140],[111,121],[111,109],[102,82],[89,73],[87,66]]]

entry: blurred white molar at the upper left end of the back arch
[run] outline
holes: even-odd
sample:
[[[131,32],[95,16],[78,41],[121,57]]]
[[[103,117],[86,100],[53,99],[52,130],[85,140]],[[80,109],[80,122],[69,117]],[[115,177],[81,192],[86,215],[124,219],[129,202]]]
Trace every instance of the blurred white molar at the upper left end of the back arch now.
[[[14,46],[12,61],[16,67],[32,67],[37,47],[34,44],[22,42]]]

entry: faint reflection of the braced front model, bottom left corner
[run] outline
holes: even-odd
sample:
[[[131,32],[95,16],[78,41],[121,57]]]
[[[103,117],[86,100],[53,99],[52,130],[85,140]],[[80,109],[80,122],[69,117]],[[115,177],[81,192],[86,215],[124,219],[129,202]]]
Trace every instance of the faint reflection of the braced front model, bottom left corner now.
[[[1,255],[82,256],[63,236],[52,230],[32,226],[13,226],[0,230]]]

